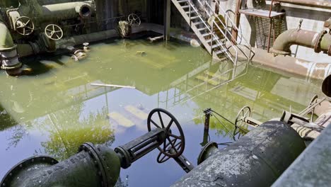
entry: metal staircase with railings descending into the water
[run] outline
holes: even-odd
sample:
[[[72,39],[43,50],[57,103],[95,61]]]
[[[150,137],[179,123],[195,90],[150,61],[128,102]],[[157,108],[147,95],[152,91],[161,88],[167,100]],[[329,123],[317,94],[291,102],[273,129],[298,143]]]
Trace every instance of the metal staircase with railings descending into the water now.
[[[178,8],[178,11],[180,11],[183,18],[185,18],[185,21],[187,21],[195,35],[197,35],[202,42],[202,45],[204,45],[212,56],[227,57],[236,67],[238,62],[238,50],[240,50],[245,57],[247,57],[248,61],[250,61],[250,54],[246,55],[244,50],[240,49],[239,45],[236,45],[236,39],[233,37],[231,30],[228,30],[227,23],[223,23],[224,21],[219,18],[219,14],[214,12],[213,8],[211,8],[206,0],[197,0],[196,4],[194,4],[192,0],[171,1],[173,1],[173,4]],[[216,2],[216,4],[218,4],[218,2]],[[224,13],[224,18],[231,21],[231,29],[239,30],[226,11],[221,7],[219,9]],[[241,38],[243,38],[243,36],[241,36]],[[231,46],[227,47],[226,43],[231,44]],[[246,43],[249,44],[247,41]],[[236,52],[234,55],[229,52],[229,48],[231,47],[233,47],[233,50]],[[251,46],[249,45],[248,48],[251,53]]]

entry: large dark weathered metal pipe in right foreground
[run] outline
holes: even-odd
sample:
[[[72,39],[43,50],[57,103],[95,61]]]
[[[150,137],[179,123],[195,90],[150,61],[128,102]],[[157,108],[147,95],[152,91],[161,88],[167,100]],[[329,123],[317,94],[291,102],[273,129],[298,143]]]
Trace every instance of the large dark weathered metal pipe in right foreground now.
[[[271,186],[305,148],[289,125],[269,121],[212,154],[172,187]]]

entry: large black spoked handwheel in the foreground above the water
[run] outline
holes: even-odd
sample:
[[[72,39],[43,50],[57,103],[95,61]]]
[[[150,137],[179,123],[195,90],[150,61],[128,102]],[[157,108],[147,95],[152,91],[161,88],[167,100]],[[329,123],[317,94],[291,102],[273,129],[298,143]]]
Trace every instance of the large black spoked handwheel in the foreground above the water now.
[[[182,152],[184,152],[184,132],[182,132],[182,128],[175,116],[168,111],[162,108],[153,109],[147,118],[147,128],[149,132],[155,128],[165,130],[163,145],[158,147],[160,151],[157,158],[158,163],[166,162],[170,158],[180,157]]]

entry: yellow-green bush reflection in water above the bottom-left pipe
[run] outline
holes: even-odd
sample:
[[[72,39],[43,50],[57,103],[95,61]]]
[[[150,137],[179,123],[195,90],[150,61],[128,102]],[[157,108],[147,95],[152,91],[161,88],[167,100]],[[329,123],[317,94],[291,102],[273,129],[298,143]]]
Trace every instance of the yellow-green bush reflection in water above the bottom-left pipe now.
[[[107,109],[102,108],[102,111],[89,113],[80,119],[82,107],[82,104],[71,106],[35,121],[35,125],[40,125],[40,130],[50,133],[50,140],[41,142],[46,154],[63,160],[75,154],[84,142],[112,145],[115,136],[109,121],[105,119]]]

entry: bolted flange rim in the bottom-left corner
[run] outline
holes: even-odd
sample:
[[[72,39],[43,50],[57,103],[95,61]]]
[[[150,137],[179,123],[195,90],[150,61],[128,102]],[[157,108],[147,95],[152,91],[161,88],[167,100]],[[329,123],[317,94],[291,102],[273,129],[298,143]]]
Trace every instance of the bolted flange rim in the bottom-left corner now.
[[[45,168],[47,166],[52,166],[54,164],[59,163],[56,159],[48,156],[37,156],[37,157],[30,157],[28,159],[25,159],[15,166],[13,166],[4,176],[4,179],[2,179],[0,186],[12,186],[11,182],[13,179],[17,179],[18,175],[21,174],[21,171],[24,169],[27,169],[26,172],[33,173],[36,171],[35,169],[32,169],[34,166],[38,166],[38,169]],[[30,176],[29,174],[25,176]]]

